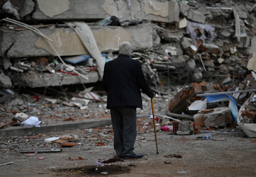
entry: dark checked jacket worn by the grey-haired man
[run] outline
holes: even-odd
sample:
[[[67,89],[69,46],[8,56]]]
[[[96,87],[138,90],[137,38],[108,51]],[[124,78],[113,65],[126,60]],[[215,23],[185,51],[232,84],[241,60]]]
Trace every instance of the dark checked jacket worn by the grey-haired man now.
[[[107,109],[114,106],[136,106],[142,109],[140,89],[148,97],[153,91],[142,72],[140,61],[127,55],[118,55],[104,66],[102,87],[108,93]]]

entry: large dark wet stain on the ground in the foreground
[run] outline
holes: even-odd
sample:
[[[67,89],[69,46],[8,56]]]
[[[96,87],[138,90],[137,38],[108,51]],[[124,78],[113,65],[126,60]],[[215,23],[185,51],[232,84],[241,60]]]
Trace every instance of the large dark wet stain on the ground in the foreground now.
[[[97,170],[96,170],[97,169]],[[130,168],[128,166],[121,165],[95,165],[95,166],[84,166],[79,168],[66,168],[66,169],[56,169],[55,173],[58,175],[66,176],[109,176],[130,173]]]

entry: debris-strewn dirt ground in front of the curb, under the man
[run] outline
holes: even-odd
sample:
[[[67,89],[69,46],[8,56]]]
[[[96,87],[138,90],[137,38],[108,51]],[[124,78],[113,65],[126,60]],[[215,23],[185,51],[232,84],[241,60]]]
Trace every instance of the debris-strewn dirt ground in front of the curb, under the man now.
[[[149,121],[147,118],[138,119],[138,127]],[[211,132],[209,140],[197,138],[205,132],[176,135],[158,131],[159,154],[156,154],[154,129],[150,126],[138,132],[135,142],[135,153],[144,154],[143,158],[101,164],[97,162],[115,155],[111,126],[51,132],[45,136],[2,137],[0,144],[6,148],[0,149],[0,162],[14,163],[1,165],[0,176],[255,176],[256,144],[250,143],[254,138],[246,138],[239,127],[216,131],[222,133]],[[57,143],[46,146],[44,138],[60,135],[77,135],[78,146],[62,147],[60,153],[36,153],[35,156],[19,153],[21,149],[59,148]],[[105,145],[98,146],[98,142]],[[180,155],[182,158],[164,157],[166,155]],[[39,156],[45,158],[41,160],[37,158]],[[69,157],[83,159],[69,160]]]

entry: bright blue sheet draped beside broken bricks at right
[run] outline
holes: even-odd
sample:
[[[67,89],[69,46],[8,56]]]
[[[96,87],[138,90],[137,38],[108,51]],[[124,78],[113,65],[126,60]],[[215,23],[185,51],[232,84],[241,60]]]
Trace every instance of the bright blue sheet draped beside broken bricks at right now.
[[[228,94],[208,95],[208,96],[202,96],[202,97],[207,97],[207,103],[229,101],[228,107],[231,109],[232,115],[235,121],[237,122],[238,109],[237,109],[237,102],[234,100],[234,98],[232,98]]]

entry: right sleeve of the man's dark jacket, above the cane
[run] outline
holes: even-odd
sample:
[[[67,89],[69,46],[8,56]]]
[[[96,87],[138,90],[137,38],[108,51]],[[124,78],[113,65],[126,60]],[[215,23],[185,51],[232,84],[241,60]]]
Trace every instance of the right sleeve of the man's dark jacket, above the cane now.
[[[150,86],[148,85],[148,82],[145,78],[145,75],[142,71],[141,64],[138,62],[136,66],[136,83],[138,87],[147,94],[148,97],[152,97],[154,92],[151,90]]]

